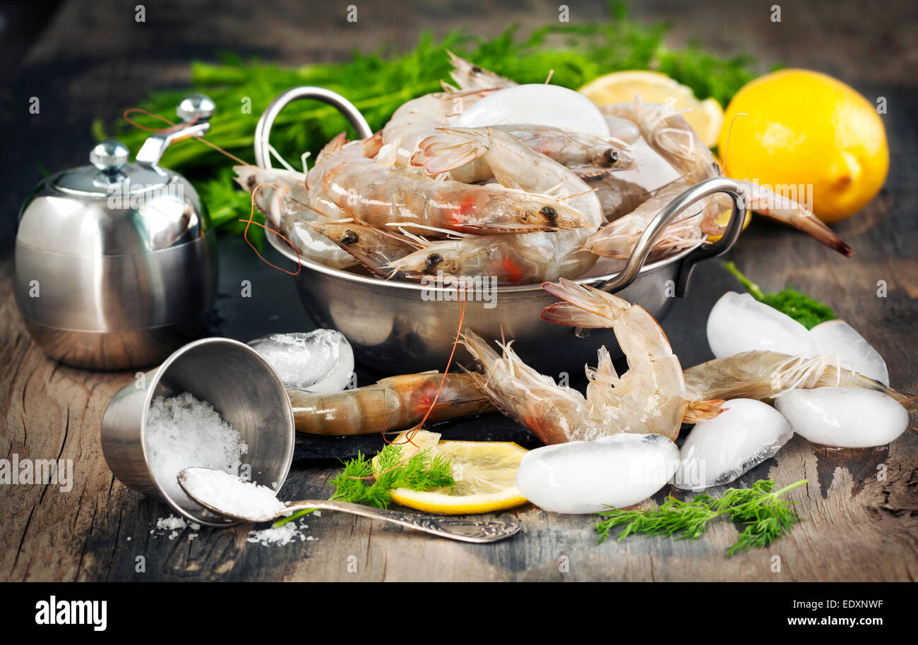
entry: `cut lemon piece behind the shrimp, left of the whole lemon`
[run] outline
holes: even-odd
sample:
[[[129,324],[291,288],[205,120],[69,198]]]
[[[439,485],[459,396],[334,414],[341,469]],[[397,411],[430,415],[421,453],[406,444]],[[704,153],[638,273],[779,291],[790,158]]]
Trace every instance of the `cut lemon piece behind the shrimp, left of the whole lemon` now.
[[[675,98],[677,110],[689,108],[689,112],[683,112],[682,116],[698,133],[704,145],[711,148],[721,134],[721,104],[713,98],[700,101],[695,98],[690,87],[677,83],[661,72],[612,72],[590,81],[577,92],[598,106],[633,101],[634,96],[640,96],[646,103],[663,103],[667,98]]]

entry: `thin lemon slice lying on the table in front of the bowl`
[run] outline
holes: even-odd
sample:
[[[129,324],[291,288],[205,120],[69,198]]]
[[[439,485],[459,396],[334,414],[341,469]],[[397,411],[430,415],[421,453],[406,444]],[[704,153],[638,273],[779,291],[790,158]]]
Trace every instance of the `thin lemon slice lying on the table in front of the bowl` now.
[[[405,441],[405,433],[396,442]],[[434,439],[435,438],[435,439]],[[526,504],[516,487],[516,472],[523,456],[529,451],[512,441],[439,441],[440,435],[419,430],[406,444],[406,456],[430,448],[431,454],[442,454],[453,464],[455,486],[414,491],[397,488],[392,501],[427,513],[443,515],[475,515]],[[434,441],[431,444],[431,441]]]

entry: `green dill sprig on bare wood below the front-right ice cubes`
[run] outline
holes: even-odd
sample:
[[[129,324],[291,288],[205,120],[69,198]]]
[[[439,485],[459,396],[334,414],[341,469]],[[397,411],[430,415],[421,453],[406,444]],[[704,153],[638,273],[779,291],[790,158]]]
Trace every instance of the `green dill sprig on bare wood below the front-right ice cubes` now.
[[[727,550],[727,557],[760,549],[780,539],[801,521],[791,507],[795,502],[781,496],[806,483],[802,479],[776,491],[775,483],[767,479],[759,480],[752,488],[728,488],[720,498],[697,495],[691,501],[683,501],[669,497],[660,506],[648,510],[629,511],[610,506],[610,510],[599,513],[605,517],[596,525],[599,543],[609,538],[612,528],[622,525],[618,541],[630,535],[664,535],[695,541],[708,529],[711,520],[727,517],[744,527]]]

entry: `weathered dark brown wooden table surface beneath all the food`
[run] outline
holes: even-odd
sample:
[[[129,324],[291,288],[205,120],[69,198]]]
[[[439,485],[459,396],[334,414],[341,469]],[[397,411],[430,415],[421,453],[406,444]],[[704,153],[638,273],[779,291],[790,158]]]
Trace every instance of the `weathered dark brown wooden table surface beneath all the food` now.
[[[89,0],[63,4],[43,31],[30,17],[7,40],[7,60],[22,59],[5,88],[0,113],[7,139],[6,191],[0,232],[0,458],[72,459],[73,490],[55,486],[0,485],[4,537],[0,580],[914,580],[918,576],[918,436],[911,430],[876,450],[814,450],[795,437],[775,459],[739,484],[773,477],[779,484],[809,484],[791,497],[808,521],[765,550],[725,559],[736,529],[718,525],[695,543],[633,538],[597,545],[589,517],[558,516],[523,506],[499,514],[518,521],[519,536],[474,546],[390,528],[363,518],[326,513],[308,519],[308,541],[265,547],[246,541],[248,527],[201,529],[175,539],[151,534],[163,504],[129,491],[112,477],[99,446],[99,423],[109,397],[128,373],[90,373],[48,360],[18,317],[10,284],[11,239],[18,204],[41,169],[84,163],[92,117],[112,118],[154,86],[185,82],[187,62],[215,50],[259,52],[285,62],[330,60],[353,47],[383,42],[409,46],[420,28],[438,32],[459,25],[493,35],[510,22],[523,28],[557,16],[556,3],[521,2],[467,13],[469,6],[428,8],[413,3],[362,6],[349,25],[340,7],[277,3],[254,17],[245,3],[179,3],[148,6],[147,22],[133,20],[130,2]],[[384,6],[385,5],[385,6]],[[650,3],[638,17],[676,24],[674,44],[698,37],[724,53],[750,51],[764,64],[784,61],[833,73],[868,98],[886,96],[891,170],[886,188],[859,214],[838,225],[856,248],[845,260],[796,231],[760,220],[744,233],[732,259],[767,289],[793,284],[833,306],[887,358],[892,384],[918,392],[915,323],[918,313],[918,59],[909,3],[883,12],[856,3],[786,6],[781,23],[767,7],[730,2]],[[599,3],[571,3],[571,19],[603,13]],[[343,9],[341,9],[343,10]],[[759,15],[761,14],[761,15]],[[16,17],[16,16],[14,16]],[[21,22],[21,21],[20,21]],[[255,28],[251,28],[254,25]],[[29,31],[31,29],[31,31]],[[39,116],[28,100],[39,96]],[[6,126],[9,126],[8,128]],[[312,327],[292,281],[265,267],[240,239],[221,241],[217,335],[252,339],[279,330]],[[252,298],[241,299],[241,279]],[[878,284],[887,295],[878,296]],[[707,312],[733,279],[719,262],[704,265],[690,297],[664,327],[684,365],[710,357],[704,335]],[[571,370],[577,370],[572,365]],[[366,384],[375,374],[360,373]],[[914,419],[912,418],[912,423]],[[492,415],[444,430],[462,436],[520,437],[521,429]],[[529,439],[530,441],[532,439]],[[533,444],[534,445],[534,444]],[[300,456],[316,449],[300,446]],[[328,451],[324,454],[329,454]],[[298,460],[283,495],[327,495],[336,463]],[[659,499],[659,497],[657,497]],[[143,571],[138,558],[142,556]]]

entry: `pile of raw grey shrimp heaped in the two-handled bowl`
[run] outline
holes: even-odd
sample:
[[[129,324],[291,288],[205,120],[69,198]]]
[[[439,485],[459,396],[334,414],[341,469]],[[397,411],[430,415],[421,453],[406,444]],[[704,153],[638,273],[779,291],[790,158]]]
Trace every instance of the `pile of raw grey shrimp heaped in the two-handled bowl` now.
[[[239,166],[237,181],[303,257],[363,265],[384,279],[494,276],[500,284],[574,279],[598,258],[621,264],[674,197],[720,167],[672,103],[604,106],[610,136],[532,124],[461,128],[476,101],[516,85],[450,54],[453,82],[400,106],[367,139],[343,133],[308,172]],[[621,179],[637,171],[639,140],[678,174],[655,190]],[[747,205],[851,253],[806,208],[753,183]],[[673,222],[654,257],[722,233],[713,195]]]

